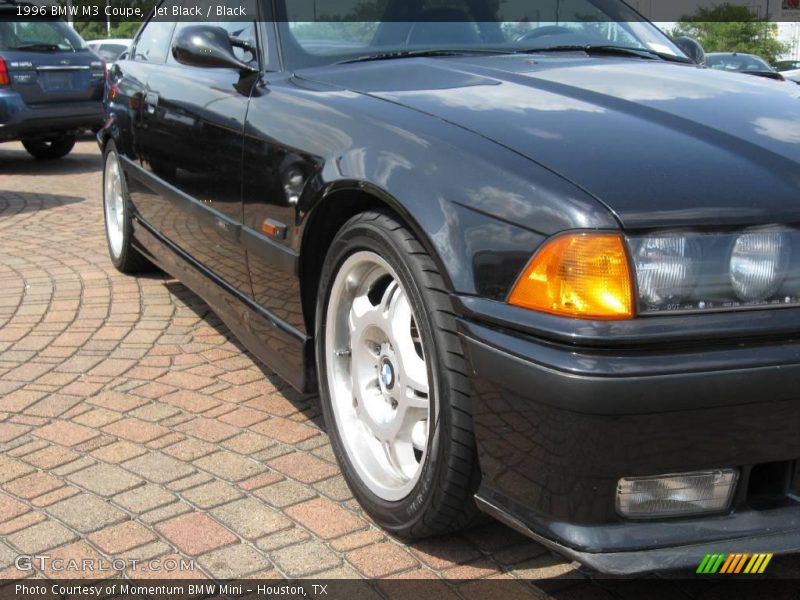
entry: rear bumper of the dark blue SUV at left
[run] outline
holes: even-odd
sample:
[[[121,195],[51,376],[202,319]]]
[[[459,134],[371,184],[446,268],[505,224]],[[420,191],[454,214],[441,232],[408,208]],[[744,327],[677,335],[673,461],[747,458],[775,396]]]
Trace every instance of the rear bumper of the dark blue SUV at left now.
[[[96,129],[102,124],[100,100],[33,107],[19,94],[0,90],[0,141]]]

